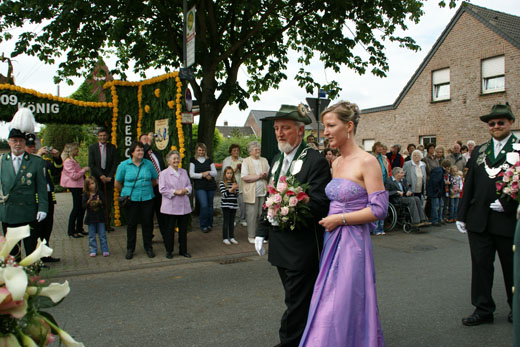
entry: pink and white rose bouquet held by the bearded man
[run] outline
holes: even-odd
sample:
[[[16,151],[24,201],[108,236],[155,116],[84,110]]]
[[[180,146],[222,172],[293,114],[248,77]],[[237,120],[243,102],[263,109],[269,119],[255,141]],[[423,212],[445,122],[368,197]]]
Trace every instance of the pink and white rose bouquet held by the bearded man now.
[[[276,187],[267,186],[269,196],[264,203],[266,219],[273,226],[282,230],[294,230],[297,223],[305,224],[305,217],[310,215],[310,208],[302,202],[307,193],[308,184],[300,185],[293,176],[281,176]]]

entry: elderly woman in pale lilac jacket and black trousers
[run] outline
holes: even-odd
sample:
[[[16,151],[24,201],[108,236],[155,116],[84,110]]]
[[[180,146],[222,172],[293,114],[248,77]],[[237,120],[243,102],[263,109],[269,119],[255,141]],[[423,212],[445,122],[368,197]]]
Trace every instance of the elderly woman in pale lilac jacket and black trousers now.
[[[173,258],[173,239],[175,227],[179,228],[179,254],[191,258],[188,253],[187,231],[188,216],[191,213],[191,183],[186,170],[179,167],[181,156],[177,151],[166,155],[168,167],[159,176],[159,193],[162,195],[161,213],[165,216],[161,234],[166,248],[166,258]]]

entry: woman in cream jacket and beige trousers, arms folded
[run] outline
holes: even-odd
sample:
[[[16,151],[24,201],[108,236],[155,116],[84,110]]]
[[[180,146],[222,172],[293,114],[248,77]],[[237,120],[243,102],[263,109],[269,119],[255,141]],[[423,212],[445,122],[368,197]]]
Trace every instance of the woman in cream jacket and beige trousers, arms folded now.
[[[246,205],[247,238],[249,243],[255,243],[258,218],[262,214],[262,205],[267,193],[269,164],[267,159],[260,157],[258,141],[249,142],[247,151],[249,157],[242,162],[242,194]]]

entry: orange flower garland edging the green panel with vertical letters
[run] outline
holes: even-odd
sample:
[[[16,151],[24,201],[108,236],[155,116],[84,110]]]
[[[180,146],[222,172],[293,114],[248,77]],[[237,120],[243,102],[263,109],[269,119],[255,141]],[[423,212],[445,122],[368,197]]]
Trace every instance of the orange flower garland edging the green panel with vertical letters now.
[[[129,81],[110,81],[103,85],[103,88],[109,88],[112,92],[112,104],[113,107],[113,116],[112,116],[112,144],[117,147],[117,138],[116,138],[116,129],[117,129],[117,118],[118,118],[118,98],[117,98],[117,90],[116,86],[125,86],[125,87],[138,87],[137,91],[137,104],[139,108],[139,116],[137,118],[137,138],[141,137],[141,122],[143,119],[143,107],[142,107],[142,97],[143,97],[143,86],[150,85],[158,82],[162,82],[168,78],[175,78],[176,86],[177,86],[177,94],[175,98],[175,115],[176,115],[176,126],[177,126],[177,135],[179,137],[179,153],[181,155],[181,160],[184,158],[185,148],[184,148],[184,132],[182,131],[182,82],[179,78],[179,73],[177,71],[172,73],[167,73],[161,76],[157,76],[148,80],[139,81],[139,82],[129,82]],[[154,94],[156,97],[160,96],[160,89],[156,88],[154,90]],[[173,101],[168,101],[168,107],[173,109]],[[146,113],[150,112],[150,106],[145,105],[144,111]],[[175,146],[172,146],[175,147]],[[172,148],[173,149],[173,148]],[[179,164],[181,167],[182,162]],[[116,226],[121,226],[121,209],[119,207],[119,191],[114,189],[114,224]]]

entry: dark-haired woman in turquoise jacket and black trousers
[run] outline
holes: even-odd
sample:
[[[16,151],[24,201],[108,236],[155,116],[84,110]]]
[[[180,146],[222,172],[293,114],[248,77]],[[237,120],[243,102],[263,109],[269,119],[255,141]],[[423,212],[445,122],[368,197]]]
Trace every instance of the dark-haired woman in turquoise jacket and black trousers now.
[[[126,256],[134,257],[137,224],[141,223],[143,245],[149,258],[155,257],[152,248],[153,233],[153,187],[157,185],[157,171],[152,162],[144,159],[144,144],[134,142],[129,148],[130,158],[119,164],[115,187],[121,197],[129,197],[125,207],[127,217]]]

